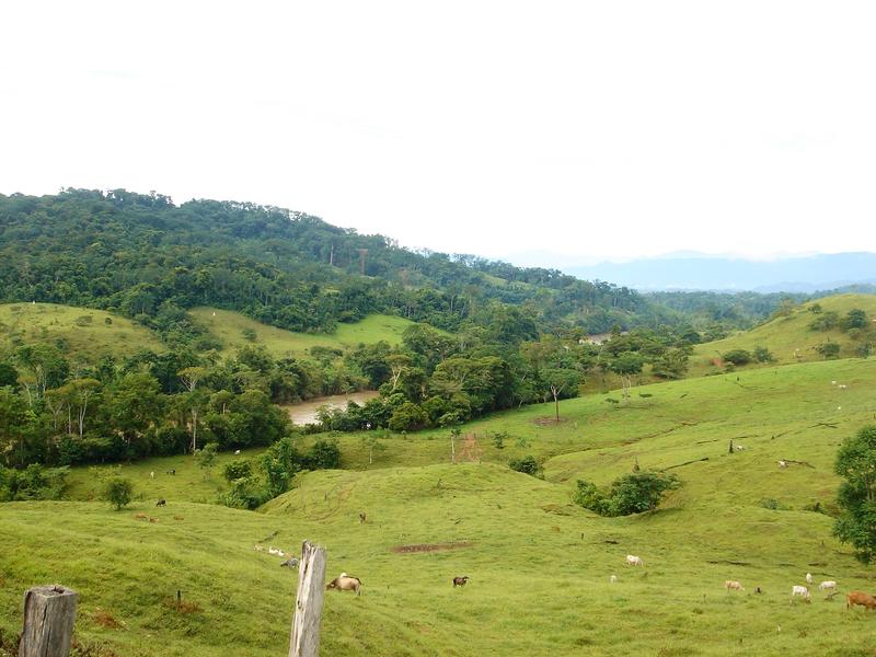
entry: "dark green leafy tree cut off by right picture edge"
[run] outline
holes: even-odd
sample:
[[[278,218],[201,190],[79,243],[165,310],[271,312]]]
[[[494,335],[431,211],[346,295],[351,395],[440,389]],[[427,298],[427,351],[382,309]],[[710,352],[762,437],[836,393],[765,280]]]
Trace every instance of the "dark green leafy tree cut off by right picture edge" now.
[[[876,558],[876,426],[863,427],[843,441],[834,471],[844,481],[837,496],[840,517],[833,535],[868,564]]]

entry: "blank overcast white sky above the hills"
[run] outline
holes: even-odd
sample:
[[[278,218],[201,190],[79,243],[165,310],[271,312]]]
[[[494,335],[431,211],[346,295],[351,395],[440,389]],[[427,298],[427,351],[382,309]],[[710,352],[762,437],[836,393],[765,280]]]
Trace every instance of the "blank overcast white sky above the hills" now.
[[[249,200],[543,265],[876,251],[873,2],[12,0],[0,24],[0,193]]]

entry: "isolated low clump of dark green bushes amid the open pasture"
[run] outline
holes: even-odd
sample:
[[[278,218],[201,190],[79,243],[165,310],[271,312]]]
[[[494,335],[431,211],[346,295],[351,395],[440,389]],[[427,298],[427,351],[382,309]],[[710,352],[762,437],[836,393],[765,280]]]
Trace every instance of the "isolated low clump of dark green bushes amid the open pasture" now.
[[[600,516],[629,516],[656,510],[666,493],[680,485],[675,474],[642,470],[614,480],[608,488],[578,480],[573,500]]]

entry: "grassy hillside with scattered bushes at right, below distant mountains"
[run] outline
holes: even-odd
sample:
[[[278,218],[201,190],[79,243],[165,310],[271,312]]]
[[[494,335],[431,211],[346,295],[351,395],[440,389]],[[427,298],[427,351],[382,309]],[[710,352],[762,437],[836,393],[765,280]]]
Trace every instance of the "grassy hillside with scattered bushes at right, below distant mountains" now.
[[[804,303],[793,310],[787,316],[770,320],[751,331],[737,333],[725,339],[696,345],[690,359],[690,374],[698,376],[718,371],[713,365],[713,359],[719,354],[731,349],[747,349],[765,346],[775,356],[776,364],[806,362],[821,360],[822,356],[815,348],[825,342],[840,344],[840,356],[852,357],[855,355],[855,343],[846,333],[839,328],[830,331],[812,331],[809,323],[818,315],[808,309],[816,302]],[[876,316],[876,295],[838,295],[818,299],[823,312],[833,311],[844,316],[850,310],[860,308],[866,311],[868,318]],[[869,328],[864,334],[869,341],[876,335],[876,328],[871,322]]]

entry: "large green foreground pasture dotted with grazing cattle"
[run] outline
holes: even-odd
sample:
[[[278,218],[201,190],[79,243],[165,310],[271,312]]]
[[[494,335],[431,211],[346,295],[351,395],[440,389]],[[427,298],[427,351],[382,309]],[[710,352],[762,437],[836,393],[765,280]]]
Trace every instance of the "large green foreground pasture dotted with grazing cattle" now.
[[[253,544],[297,551],[311,539],[331,576],[365,584],[358,599],[328,592],[324,655],[872,655],[860,610],[818,593],[788,604],[788,593],[807,572],[876,589],[831,518],[805,508],[830,507],[837,446],[876,413],[874,374],[875,360],[848,359],[689,379],[618,404],[606,401],[616,393],[562,402],[560,425],[550,405],[532,406],[464,427],[480,463],[451,465],[445,430],[390,438],[368,469],[359,437],[342,436],[350,470],[306,474],[261,512],[191,502],[217,484],[196,486],[188,458],[125,466],[146,499],[120,512],[0,505],[0,629],[16,630],[27,586],[62,581],[83,595],[80,636],[118,654],[281,655],[296,575]],[[504,449],[495,431],[507,431]],[[745,451],[729,454],[730,439]],[[526,453],[544,480],[505,465]],[[635,460],[683,481],[660,511],[608,519],[570,503],[577,479],[608,483]],[[91,476],[78,470],[72,491]],[[159,494],[166,509],[152,506]],[[645,567],[625,567],[630,553]],[[453,589],[456,575],[469,586]],[[168,607],[177,589],[200,610]],[[102,612],[125,624],[104,626]]]

